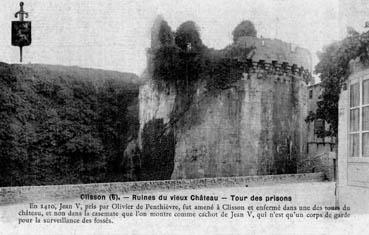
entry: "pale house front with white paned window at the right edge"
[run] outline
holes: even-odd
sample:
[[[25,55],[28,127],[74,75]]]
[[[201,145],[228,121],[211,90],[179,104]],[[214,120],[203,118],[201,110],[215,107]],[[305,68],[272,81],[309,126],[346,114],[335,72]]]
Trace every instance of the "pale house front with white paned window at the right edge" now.
[[[338,201],[353,212],[369,212],[369,67],[350,64],[339,100]]]

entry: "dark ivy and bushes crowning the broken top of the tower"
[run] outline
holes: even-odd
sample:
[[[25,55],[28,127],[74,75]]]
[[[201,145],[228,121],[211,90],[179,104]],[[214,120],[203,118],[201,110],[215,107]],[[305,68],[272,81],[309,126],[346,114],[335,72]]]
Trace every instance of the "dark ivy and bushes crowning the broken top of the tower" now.
[[[250,24],[253,27],[250,21],[243,21],[240,25]],[[241,27],[240,25],[238,27]],[[245,30],[243,29],[243,32]],[[159,39],[173,35],[170,32],[167,22],[162,21]],[[247,35],[248,33],[249,30]],[[216,89],[229,87],[242,77],[243,72],[241,66],[233,59],[236,57],[250,59],[248,56],[255,49],[236,45],[230,45],[224,50],[207,48],[202,43],[196,24],[192,21],[181,24],[174,35],[174,44],[171,44],[170,40],[161,40],[161,46],[153,52],[153,78],[157,81],[174,83],[179,91],[185,86],[185,91],[188,92],[189,86],[199,79],[208,80],[208,87]]]

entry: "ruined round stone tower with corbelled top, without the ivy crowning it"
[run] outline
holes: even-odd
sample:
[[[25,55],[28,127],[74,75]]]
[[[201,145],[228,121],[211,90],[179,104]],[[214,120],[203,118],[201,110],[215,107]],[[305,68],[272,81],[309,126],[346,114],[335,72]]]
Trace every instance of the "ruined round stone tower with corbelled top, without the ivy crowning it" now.
[[[180,94],[171,85],[158,89],[152,72],[145,72],[147,82],[139,95],[139,145],[147,165],[142,170],[152,173],[142,179],[297,172],[296,162],[306,151],[310,53],[256,37],[239,38],[230,47],[254,48],[252,58],[234,57],[235,63],[229,64],[245,72],[217,93],[209,93],[205,82],[198,81],[193,105],[170,130],[163,128]],[[151,60],[149,49],[148,67]]]

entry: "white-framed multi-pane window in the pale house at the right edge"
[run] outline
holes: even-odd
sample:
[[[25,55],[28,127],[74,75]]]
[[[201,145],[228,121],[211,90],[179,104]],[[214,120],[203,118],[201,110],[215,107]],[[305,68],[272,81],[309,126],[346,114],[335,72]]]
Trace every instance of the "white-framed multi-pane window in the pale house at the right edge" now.
[[[369,158],[369,79],[350,85],[349,157]]]

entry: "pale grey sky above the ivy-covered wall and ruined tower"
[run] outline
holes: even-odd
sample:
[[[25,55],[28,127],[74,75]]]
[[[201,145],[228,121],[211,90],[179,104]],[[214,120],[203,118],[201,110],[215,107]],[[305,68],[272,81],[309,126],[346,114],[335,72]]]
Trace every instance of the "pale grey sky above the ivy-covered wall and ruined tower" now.
[[[359,0],[356,0],[359,1]],[[19,1],[0,0],[0,61],[19,63],[10,22]],[[339,0],[24,0],[32,21],[32,44],[23,63],[77,65],[140,75],[150,30],[162,15],[172,30],[193,20],[203,42],[216,49],[232,42],[242,20],[258,35],[295,43],[312,53],[340,37]]]

